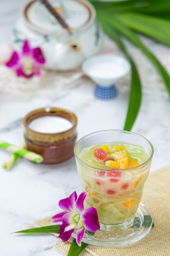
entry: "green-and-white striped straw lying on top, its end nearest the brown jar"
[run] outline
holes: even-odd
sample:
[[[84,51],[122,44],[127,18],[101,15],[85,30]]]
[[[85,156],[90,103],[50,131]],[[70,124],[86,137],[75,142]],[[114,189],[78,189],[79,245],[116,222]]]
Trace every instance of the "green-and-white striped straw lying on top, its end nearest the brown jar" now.
[[[43,157],[34,152],[11,145],[7,142],[0,140],[0,148],[6,149],[9,152],[16,153],[20,157],[24,157],[32,162],[40,164],[43,161]]]

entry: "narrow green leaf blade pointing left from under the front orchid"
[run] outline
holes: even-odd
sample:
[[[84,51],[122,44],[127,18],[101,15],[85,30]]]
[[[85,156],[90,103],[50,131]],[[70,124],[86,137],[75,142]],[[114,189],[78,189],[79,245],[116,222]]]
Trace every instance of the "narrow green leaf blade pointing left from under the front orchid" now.
[[[36,227],[33,229],[25,229],[14,233],[60,233],[60,225],[52,225],[46,227]]]

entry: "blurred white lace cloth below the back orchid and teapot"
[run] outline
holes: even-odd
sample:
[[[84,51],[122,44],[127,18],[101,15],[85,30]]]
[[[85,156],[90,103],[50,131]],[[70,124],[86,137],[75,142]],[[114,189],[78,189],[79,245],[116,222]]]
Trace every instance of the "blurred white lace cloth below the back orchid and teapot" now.
[[[31,79],[16,76],[15,72],[5,65],[0,65],[0,91],[16,94],[22,97],[46,95],[54,97],[62,93],[68,87],[74,85],[74,81],[82,77],[81,70],[77,72],[50,72],[41,70],[41,76],[33,76]]]

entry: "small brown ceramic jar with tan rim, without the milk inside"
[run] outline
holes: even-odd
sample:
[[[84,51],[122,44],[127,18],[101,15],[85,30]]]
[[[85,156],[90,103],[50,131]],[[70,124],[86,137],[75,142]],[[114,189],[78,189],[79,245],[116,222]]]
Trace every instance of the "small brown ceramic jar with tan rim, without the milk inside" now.
[[[63,132],[42,133],[31,130],[29,124],[34,119],[44,116],[62,117],[70,121],[73,126]],[[71,158],[74,154],[74,145],[77,137],[77,117],[70,111],[62,108],[39,108],[29,112],[24,117],[26,148],[42,155],[44,164],[57,164]]]

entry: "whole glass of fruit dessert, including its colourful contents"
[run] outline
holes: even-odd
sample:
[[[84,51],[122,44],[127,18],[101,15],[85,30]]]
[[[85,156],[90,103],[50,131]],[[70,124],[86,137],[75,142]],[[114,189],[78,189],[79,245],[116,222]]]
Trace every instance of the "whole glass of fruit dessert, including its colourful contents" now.
[[[141,201],[153,146],[144,137],[121,130],[89,134],[75,145],[86,204],[95,207],[102,230],[127,229]]]

